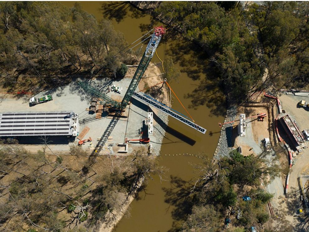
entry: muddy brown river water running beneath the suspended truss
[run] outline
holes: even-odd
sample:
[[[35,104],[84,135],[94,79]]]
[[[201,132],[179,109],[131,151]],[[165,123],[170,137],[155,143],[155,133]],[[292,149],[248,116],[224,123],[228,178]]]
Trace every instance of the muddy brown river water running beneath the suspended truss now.
[[[62,3],[68,7],[74,5],[74,2]],[[83,10],[95,15],[97,19],[108,17],[110,12],[115,12],[114,16],[117,17],[117,20],[112,19],[113,25],[116,30],[124,34],[129,44],[145,34],[145,31],[141,31],[140,25],[149,24],[151,19],[149,15],[140,16],[139,11],[130,7],[129,4],[125,5],[121,2],[113,2],[112,4],[111,2],[80,2],[80,4]],[[119,7],[118,11],[115,10],[116,7]],[[104,11],[106,9],[109,9],[108,13]],[[156,23],[155,25],[161,24]],[[183,105],[188,108],[192,99],[184,96],[192,93],[199,85],[200,80],[205,79],[207,71],[204,71],[203,64],[206,64],[207,60],[197,56],[196,51],[192,51],[192,44],[177,37],[173,38],[174,35],[168,31],[166,51],[173,57],[176,61],[175,66],[182,72],[179,79],[172,81],[170,85]],[[163,45],[164,40],[161,40],[157,49],[162,60],[164,59]],[[156,56],[151,61],[160,62]],[[197,77],[199,79],[195,80]],[[207,93],[203,91],[201,94]],[[198,97],[198,94],[196,96]],[[221,104],[220,101],[224,102],[223,99],[218,98],[217,103]],[[185,114],[176,99],[174,99],[172,107]],[[192,163],[199,164],[203,159],[206,161],[212,159],[220,136],[218,122],[224,121],[222,116],[224,112],[218,113],[221,116],[210,116],[211,109],[204,105],[197,107],[197,109],[188,109],[188,111],[198,125],[207,129],[206,134],[199,133],[174,118],[169,118],[170,133],[166,133],[162,142],[161,156],[158,157],[160,165],[168,169],[166,175],[163,176],[166,181],[161,182],[158,176],[154,176],[145,189],[139,192],[138,198],[131,203],[129,214],[122,218],[114,232],[171,231],[173,221],[179,224],[179,219],[183,214],[187,214],[186,205],[181,195],[183,189],[179,186],[183,184],[189,186],[187,181],[197,177]],[[187,153],[188,155],[186,155]],[[203,157],[203,159],[195,157],[193,154]],[[179,186],[176,186],[175,183]]]

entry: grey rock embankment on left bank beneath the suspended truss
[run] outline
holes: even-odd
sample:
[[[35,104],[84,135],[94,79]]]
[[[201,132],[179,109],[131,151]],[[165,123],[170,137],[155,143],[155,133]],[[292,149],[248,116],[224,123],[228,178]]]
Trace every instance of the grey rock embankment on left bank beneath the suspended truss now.
[[[161,149],[161,143],[163,141],[163,138],[165,136],[165,130],[166,126],[169,123],[169,116],[159,110],[154,112],[159,120],[161,119],[161,123],[155,123],[154,124],[154,138],[155,138],[155,143],[153,143],[152,147],[152,154],[154,156],[159,156],[160,155],[160,149]],[[162,126],[160,124],[163,124]]]

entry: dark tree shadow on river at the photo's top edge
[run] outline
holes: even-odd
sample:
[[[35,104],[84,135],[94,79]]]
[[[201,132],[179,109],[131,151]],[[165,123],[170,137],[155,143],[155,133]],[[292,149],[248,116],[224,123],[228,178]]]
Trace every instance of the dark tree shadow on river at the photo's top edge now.
[[[104,2],[99,10],[102,12],[103,17],[110,20],[115,19],[116,22],[121,22],[121,20],[127,16],[130,16],[131,18],[145,16],[144,12],[137,10],[130,2],[123,1]]]

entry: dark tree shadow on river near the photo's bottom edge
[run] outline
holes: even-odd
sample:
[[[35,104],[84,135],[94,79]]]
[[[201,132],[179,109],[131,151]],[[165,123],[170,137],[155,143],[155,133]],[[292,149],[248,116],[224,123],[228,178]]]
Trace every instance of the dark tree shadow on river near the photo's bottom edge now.
[[[172,210],[172,218],[175,220],[173,223],[173,227],[177,226],[177,221],[185,220],[188,214],[191,213],[191,209],[193,206],[193,198],[190,196],[190,189],[192,185],[182,180],[177,176],[171,175],[171,187],[170,188],[162,188],[165,192],[165,202],[169,204],[167,211],[170,206],[173,206]],[[171,229],[170,231],[174,231]]]

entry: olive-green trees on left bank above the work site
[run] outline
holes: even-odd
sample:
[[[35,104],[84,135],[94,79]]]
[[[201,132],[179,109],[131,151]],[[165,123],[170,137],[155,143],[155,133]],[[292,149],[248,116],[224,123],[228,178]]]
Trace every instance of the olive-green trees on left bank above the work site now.
[[[0,69],[7,88],[61,85],[74,75],[123,76],[130,53],[112,22],[59,2],[0,2]]]

